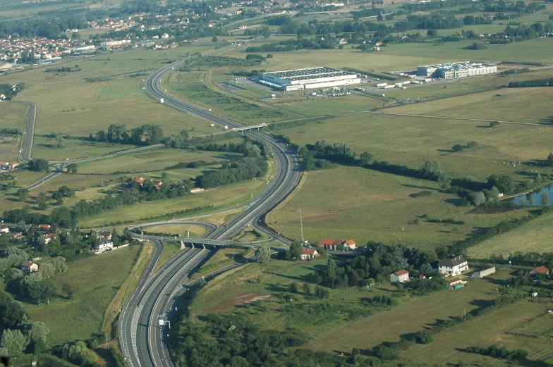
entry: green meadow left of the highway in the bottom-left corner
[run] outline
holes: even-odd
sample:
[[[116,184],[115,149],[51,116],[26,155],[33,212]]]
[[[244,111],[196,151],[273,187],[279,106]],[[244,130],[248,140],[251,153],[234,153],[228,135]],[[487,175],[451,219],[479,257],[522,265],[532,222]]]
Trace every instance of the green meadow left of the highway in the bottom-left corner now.
[[[104,311],[128,277],[139,253],[140,247],[133,246],[73,261],[66,273],[52,278],[59,294],[63,284],[73,287],[73,299],[60,295],[51,299],[50,304],[25,304],[32,321],[42,321],[51,330],[49,344],[85,340],[99,334]]]

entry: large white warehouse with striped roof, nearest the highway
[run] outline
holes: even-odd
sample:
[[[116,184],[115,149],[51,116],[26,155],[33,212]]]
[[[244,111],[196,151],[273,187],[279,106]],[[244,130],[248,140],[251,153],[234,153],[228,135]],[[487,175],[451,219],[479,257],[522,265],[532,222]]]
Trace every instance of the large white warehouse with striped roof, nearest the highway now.
[[[274,88],[290,91],[359,84],[361,80],[356,73],[348,73],[347,71],[323,66],[322,68],[263,73],[260,82]]]

